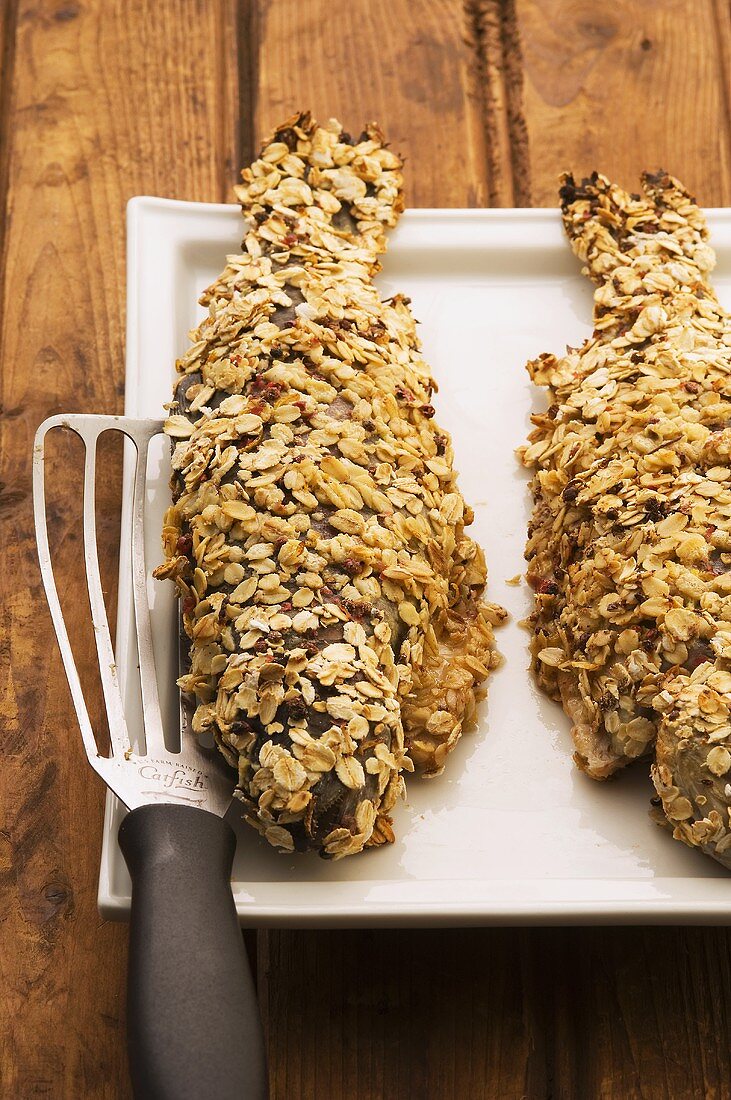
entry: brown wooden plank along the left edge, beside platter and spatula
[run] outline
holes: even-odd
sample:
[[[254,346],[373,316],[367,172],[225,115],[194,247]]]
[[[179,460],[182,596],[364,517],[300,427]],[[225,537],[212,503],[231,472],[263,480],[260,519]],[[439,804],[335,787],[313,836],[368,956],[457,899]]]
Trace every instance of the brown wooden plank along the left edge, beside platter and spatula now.
[[[0,1093],[111,1100],[129,1094],[126,931],[96,910],[103,788],[81,751],[41,592],[31,442],[52,411],[121,409],[126,199],[228,191],[235,18],[232,4],[202,0],[21,0],[3,8],[3,37]],[[54,468],[59,575],[78,629],[75,485],[63,461]],[[108,472],[109,563],[119,526]]]

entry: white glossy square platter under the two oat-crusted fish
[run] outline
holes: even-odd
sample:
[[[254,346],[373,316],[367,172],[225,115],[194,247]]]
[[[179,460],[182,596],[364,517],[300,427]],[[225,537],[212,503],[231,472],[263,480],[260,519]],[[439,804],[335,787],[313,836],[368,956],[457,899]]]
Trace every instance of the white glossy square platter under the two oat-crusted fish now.
[[[731,306],[731,211],[709,211],[716,285]],[[129,416],[158,417],[174,363],[202,316],[201,290],[239,251],[237,207],[132,199],[128,209]],[[528,671],[530,612],[522,573],[530,499],[514,449],[529,430],[524,370],[542,351],[577,344],[591,327],[591,287],[553,210],[409,210],[391,234],[378,284],[401,290],[421,321],[440,392],[436,419],[454,438],[463,493],[485,547],[488,597],[510,622],[498,631],[503,666],[489,681],[478,728],[434,780],[410,778],[392,846],[325,862],[279,855],[253,829],[237,832],[233,891],[244,925],[457,925],[726,923],[731,880],[647,815],[641,762],[606,784],[572,762],[568,723]],[[160,560],[168,502],[166,446],[151,465],[147,561]],[[129,473],[129,471],[128,471]],[[177,723],[176,604],[151,581],[157,671],[166,721]],[[117,657],[131,730],[140,728],[131,586],[120,576]],[[124,919],[130,880],[117,844],[124,810],[109,795],[99,883],[107,917]]]

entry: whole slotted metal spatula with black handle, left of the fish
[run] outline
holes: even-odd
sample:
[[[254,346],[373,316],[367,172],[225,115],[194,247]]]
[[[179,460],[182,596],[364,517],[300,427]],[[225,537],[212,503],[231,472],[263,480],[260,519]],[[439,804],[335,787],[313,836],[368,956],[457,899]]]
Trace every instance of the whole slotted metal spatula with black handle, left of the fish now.
[[[97,747],[51,563],[44,446],[54,428],[75,431],[86,447],[84,557],[109,757]],[[110,429],[123,432],[136,450],[130,534],[144,751],[130,743],[97,556],[97,442]],[[233,774],[185,728],[180,750],[166,748],[157,697],[143,522],[147,450],[162,430],[159,420],[117,416],[54,416],[41,425],[33,454],[38,558],[89,763],[130,810],[119,840],[132,877],[128,1032],[135,1097],[258,1100],[267,1094],[264,1044],[231,894],[235,837],[223,821]]]

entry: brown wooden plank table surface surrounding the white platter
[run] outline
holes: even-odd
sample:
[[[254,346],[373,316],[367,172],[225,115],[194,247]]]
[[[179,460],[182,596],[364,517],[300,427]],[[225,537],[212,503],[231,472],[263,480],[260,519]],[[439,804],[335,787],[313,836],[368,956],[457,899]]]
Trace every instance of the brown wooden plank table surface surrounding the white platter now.
[[[656,166],[731,205],[731,14],[4,0],[0,19],[0,1094],[125,1098],[128,933],[96,909],[103,790],[44,606],[30,466],[46,415],[122,408],[128,198],[229,200],[268,130],[308,107],[354,130],[378,119],[412,206],[554,206],[565,167],[632,188]],[[78,620],[70,453],[55,530]],[[113,587],[113,454],[107,469]],[[90,667],[88,635],[82,654]],[[730,946],[724,928],[262,932],[272,1096],[721,1100]]]

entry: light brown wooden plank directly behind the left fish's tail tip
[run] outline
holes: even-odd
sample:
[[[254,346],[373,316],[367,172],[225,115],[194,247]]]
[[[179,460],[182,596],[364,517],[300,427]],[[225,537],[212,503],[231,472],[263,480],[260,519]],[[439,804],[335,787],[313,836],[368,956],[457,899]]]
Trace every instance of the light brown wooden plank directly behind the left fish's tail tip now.
[[[476,58],[458,0],[258,0],[254,11],[257,141],[299,109],[354,133],[377,119],[406,157],[409,206],[486,205]]]

